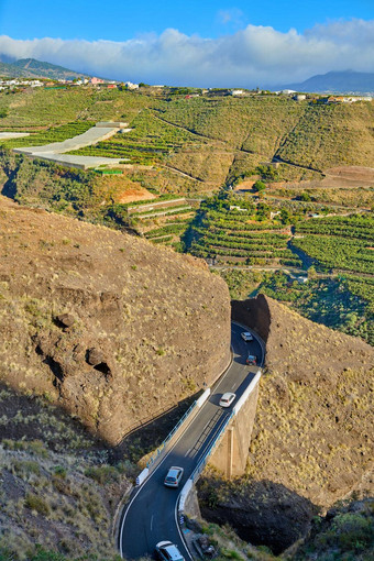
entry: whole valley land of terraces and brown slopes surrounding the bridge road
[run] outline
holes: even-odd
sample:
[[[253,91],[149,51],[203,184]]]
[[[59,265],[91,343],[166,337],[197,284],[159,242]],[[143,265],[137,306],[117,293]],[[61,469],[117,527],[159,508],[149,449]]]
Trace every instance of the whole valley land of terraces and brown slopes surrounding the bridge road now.
[[[116,559],[132,482],[224,371],[231,319],[265,364],[245,473],[204,472],[197,534],[220,560],[369,560],[374,102],[67,87],[0,110],[30,133],[0,139],[1,561]],[[110,167],[13,152],[99,121],[131,130],[70,155]]]

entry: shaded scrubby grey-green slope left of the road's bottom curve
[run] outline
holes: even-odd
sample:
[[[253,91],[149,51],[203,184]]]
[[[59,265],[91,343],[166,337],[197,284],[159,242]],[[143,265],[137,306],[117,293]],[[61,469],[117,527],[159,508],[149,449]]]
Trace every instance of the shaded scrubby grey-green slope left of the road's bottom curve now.
[[[1,384],[0,409],[0,559],[117,559],[112,529],[131,465],[108,464],[105,446],[45,397]]]

